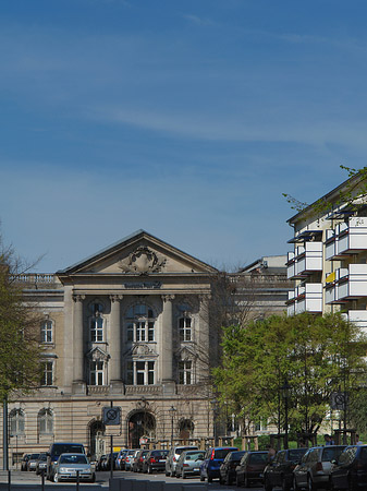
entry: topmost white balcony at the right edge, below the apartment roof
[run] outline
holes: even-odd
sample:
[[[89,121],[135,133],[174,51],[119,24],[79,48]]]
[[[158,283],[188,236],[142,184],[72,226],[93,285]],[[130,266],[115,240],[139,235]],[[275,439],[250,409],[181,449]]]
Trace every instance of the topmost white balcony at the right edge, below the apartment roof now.
[[[326,259],[340,260],[367,250],[367,217],[352,216],[348,221],[327,230]]]

